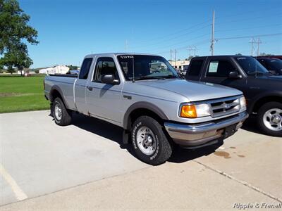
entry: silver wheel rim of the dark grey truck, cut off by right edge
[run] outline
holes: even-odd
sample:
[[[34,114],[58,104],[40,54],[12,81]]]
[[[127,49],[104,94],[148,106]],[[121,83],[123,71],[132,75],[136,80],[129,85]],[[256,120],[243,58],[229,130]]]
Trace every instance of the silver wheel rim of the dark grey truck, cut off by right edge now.
[[[271,108],[264,113],[264,125],[272,131],[282,130],[282,110],[280,108]]]

